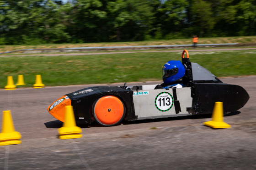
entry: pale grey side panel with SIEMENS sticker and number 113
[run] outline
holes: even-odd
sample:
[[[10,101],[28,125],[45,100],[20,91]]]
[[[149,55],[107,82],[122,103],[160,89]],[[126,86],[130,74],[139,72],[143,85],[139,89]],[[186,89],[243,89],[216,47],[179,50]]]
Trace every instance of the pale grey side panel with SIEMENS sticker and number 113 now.
[[[138,120],[189,114],[187,108],[192,107],[191,87],[175,90],[181,107],[178,114],[175,111],[173,89],[133,91],[135,115],[138,116]]]

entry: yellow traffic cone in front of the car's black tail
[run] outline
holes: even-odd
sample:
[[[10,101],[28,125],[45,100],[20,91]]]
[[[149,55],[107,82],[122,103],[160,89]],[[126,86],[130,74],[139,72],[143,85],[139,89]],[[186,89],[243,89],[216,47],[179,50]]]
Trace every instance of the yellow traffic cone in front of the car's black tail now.
[[[218,128],[230,128],[231,125],[223,121],[223,102],[215,102],[213,108],[212,120],[204,122],[204,125],[210,126],[214,129]]]

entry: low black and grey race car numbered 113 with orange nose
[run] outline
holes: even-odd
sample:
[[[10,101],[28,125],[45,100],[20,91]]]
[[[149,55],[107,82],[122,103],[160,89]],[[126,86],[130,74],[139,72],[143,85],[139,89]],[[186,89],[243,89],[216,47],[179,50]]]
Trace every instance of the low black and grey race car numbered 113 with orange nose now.
[[[182,52],[181,60],[186,69],[183,88],[126,84],[89,87],[60,97],[47,110],[64,122],[65,106],[72,105],[76,124],[96,121],[102,126],[114,126],[122,120],[212,114],[216,101],[223,102],[224,113],[229,113],[249,100],[241,86],[225,84],[203,66],[191,63],[187,50]]]

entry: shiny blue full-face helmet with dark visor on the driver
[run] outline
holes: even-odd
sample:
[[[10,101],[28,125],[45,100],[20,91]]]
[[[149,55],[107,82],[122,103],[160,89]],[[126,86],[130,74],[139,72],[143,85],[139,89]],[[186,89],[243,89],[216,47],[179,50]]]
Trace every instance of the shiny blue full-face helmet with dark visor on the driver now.
[[[185,67],[181,61],[168,61],[162,69],[162,78],[165,84],[181,79],[185,75]]]

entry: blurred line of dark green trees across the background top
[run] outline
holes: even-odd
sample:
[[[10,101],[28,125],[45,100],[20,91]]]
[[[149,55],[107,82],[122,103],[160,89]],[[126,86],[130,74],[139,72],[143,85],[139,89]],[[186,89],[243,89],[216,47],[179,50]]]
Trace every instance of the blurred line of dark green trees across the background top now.
[[[0,45],[256,35],[256,0],[0,0]]]

